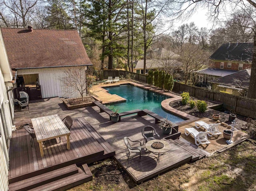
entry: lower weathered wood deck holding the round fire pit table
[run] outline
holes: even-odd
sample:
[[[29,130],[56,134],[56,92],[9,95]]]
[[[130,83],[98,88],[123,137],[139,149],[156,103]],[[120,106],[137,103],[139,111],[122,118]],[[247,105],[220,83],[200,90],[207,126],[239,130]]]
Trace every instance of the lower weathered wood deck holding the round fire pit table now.
[[[138,154],[132,153],[129,160],[127,160],[128,150],[124,144],[124,136],[143,142],[141,130],[144,126],[151,125],[156,128],[160,138],[164,138],[166,135],[159,128],[160,124],[155,124],[155,119],[150,116],[128,116],[122,118],[121,122],[112,123],[108,120],[108,114],[100,113],[100,115],[99,118],[87,117],[86,120],[114,148],[116,151],[114,158],[136,183],[145,181],[181,164],[205,157],[203,152],[184,144],[180,140],[167,140],[172,148],[166,154],[160,156],[159,162],[157,162],[157,155],[145,150],[145,145],[142,148],[141,159],[139,159]]]

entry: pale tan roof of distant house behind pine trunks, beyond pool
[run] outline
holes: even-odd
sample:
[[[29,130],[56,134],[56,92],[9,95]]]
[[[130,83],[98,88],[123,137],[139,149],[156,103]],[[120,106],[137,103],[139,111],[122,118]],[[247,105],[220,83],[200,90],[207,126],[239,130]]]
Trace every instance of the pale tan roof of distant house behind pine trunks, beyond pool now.
[[[179,67],[182,65],[179,61],[177,60],[161,60],[161,59],[146,59],[146,68],[162,68],[164,67],[164,64],[168,63],[169,65],[172,65],[173,67]],[[134,61],[133,63],[135,69],[143,69],[144,68],[144,59]]]

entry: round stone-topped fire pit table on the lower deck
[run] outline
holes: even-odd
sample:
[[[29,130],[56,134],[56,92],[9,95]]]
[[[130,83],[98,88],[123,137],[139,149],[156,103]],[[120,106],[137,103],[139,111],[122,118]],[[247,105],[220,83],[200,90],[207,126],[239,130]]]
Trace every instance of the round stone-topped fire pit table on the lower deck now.
[[[146,143],[146,149],[153,154],[158,155],[157,161],[159,162],[159,156],[168,152],[171,149],[171,146],[165,140],[150,140]]]

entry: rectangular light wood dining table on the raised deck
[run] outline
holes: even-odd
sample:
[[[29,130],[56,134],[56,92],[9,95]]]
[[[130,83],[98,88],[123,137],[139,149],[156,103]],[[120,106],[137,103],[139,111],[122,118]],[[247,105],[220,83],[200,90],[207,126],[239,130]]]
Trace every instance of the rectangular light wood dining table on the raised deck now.
[[[57,114],[33,118],[31,119],[31,121],[34,127],[36,140],[39,144],[40,154],[42,157],[44,156],[43,142],[46,140],[66,136],[67,149],[70,150],[70,131]]]

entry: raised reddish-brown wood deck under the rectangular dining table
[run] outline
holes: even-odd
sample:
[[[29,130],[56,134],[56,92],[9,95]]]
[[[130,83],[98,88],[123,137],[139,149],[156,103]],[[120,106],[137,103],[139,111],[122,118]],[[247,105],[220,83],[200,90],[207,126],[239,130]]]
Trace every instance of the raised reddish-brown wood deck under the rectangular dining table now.
[[[40,175],[71,164],[83,164],[115,155],[113,148],[86,121],[75,119],[71,129],[70,150],[66,148],[66,137],[45,142],[45,156],[40,156],[39,145],[24,129],[12,134],[10,144],[9,183]]]

